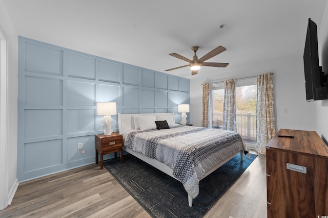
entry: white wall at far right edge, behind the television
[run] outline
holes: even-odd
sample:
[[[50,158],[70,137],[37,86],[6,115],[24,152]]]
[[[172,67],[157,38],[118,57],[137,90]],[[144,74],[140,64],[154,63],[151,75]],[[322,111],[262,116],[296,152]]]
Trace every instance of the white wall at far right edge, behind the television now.
[[[328,3],[323,12],[321,26],[318,29],[319,64],[328,74]],[[316,102],[316,131],[328,140],[328,100]]]

